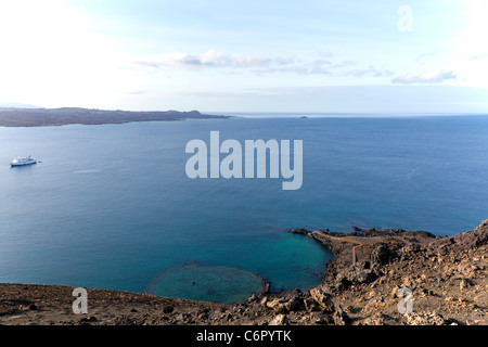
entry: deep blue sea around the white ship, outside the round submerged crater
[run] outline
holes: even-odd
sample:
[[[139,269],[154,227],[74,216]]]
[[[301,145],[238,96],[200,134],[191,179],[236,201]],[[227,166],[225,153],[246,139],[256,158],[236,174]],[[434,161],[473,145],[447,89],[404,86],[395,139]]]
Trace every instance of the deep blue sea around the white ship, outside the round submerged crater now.
[[[189,179],[185,144],[211,130],[303,140],[301,189]],[[10,168],[29,153],[42,163]],[[286,229],[472,230],[488,218],[487,172],[486,116],[0,128],[0,282],[143,292],[196,261],[306,290],[330,254]]]

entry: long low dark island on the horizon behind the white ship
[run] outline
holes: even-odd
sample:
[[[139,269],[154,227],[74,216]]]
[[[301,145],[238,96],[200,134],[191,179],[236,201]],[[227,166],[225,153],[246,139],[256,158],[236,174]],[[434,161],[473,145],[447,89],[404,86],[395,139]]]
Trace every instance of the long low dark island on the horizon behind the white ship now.
[[[163,121],[184,119],[223,119],[230,116],[205,115],[198,111],[121,111],[80,107],[16,108],[0,107],[1,127],[46,127],[69,124],[100,125],[129,121]]]

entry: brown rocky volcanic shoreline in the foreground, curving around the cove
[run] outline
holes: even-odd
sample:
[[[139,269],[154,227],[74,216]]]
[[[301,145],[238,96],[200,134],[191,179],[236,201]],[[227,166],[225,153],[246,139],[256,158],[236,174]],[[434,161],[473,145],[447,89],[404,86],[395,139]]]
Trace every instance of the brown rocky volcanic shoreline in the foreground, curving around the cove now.
[[[0,324],[488,324],[488,220],[449,237],[398,229],[290,232],[334,254],[323,283],[307,292],[265,291],[221,305],[88,288],[88,313],[75,314],[73,287],[0,284]],[[400,297],[404,291],[411,297]]]

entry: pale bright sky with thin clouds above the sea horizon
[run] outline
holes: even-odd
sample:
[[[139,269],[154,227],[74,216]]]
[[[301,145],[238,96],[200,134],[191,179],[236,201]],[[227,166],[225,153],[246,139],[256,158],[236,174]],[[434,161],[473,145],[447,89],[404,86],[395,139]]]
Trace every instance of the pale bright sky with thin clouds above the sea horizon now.
[[[0,2],[0,101],[488,113],[488,1]]]

